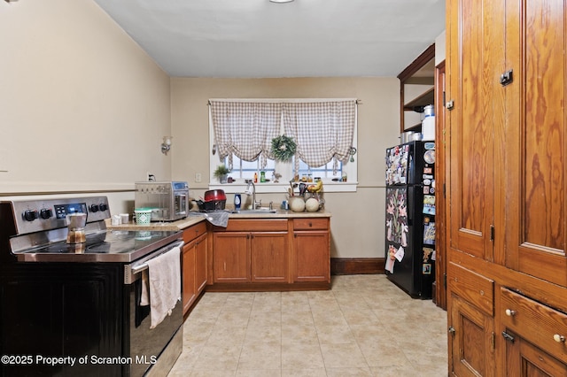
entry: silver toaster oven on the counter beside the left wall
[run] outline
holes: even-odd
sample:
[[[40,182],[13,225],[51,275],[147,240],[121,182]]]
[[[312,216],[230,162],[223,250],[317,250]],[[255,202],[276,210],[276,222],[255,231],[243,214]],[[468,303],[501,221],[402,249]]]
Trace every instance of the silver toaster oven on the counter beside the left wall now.
[[[189,212],[189,185],[183,181],[135,182],[134,205],[151,208],[151,221],[185,219]]]

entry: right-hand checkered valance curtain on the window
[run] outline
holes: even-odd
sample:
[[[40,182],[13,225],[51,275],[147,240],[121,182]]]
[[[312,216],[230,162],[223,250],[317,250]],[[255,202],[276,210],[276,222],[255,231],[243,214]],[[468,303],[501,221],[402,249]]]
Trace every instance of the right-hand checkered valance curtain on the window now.
[[[336,173],[338,161],[346,162],[353,146],[356,100],[286,103],[282,111],[284,132],[297,143],[295,173],[299,158],[314,167],[334,159]]]

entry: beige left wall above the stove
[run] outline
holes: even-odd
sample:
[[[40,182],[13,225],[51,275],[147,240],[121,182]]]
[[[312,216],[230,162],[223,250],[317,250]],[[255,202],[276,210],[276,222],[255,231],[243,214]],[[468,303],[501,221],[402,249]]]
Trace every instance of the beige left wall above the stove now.
[[[97,4],[2,1],[0,50],[0,196],[170,178],[169,77]]]

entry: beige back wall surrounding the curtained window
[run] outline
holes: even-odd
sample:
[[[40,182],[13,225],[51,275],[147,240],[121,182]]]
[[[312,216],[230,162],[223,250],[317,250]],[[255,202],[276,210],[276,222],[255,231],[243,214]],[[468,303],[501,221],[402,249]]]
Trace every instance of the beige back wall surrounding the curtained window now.
[[[334,258],[384,257],[384,152],[399,142],[400,81],[396,78],[190,79],[172,78],[172,177],[190,182],[194,195],[206,189],[209,168],[209,98],[358,98],[359,187],[355,193],[326,193],[332,212]],[[202,183],[194,181],[202,173]],[[283,194],[261,194],[281,203]]]

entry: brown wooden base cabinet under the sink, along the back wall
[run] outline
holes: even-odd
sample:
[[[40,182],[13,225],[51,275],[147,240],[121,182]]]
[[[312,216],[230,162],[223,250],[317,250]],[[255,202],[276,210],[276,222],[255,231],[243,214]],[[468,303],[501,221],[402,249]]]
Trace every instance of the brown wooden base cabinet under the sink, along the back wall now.
[[[211,290],[330,287],[327,217],[229,219],[214,227],[213,249]]]

